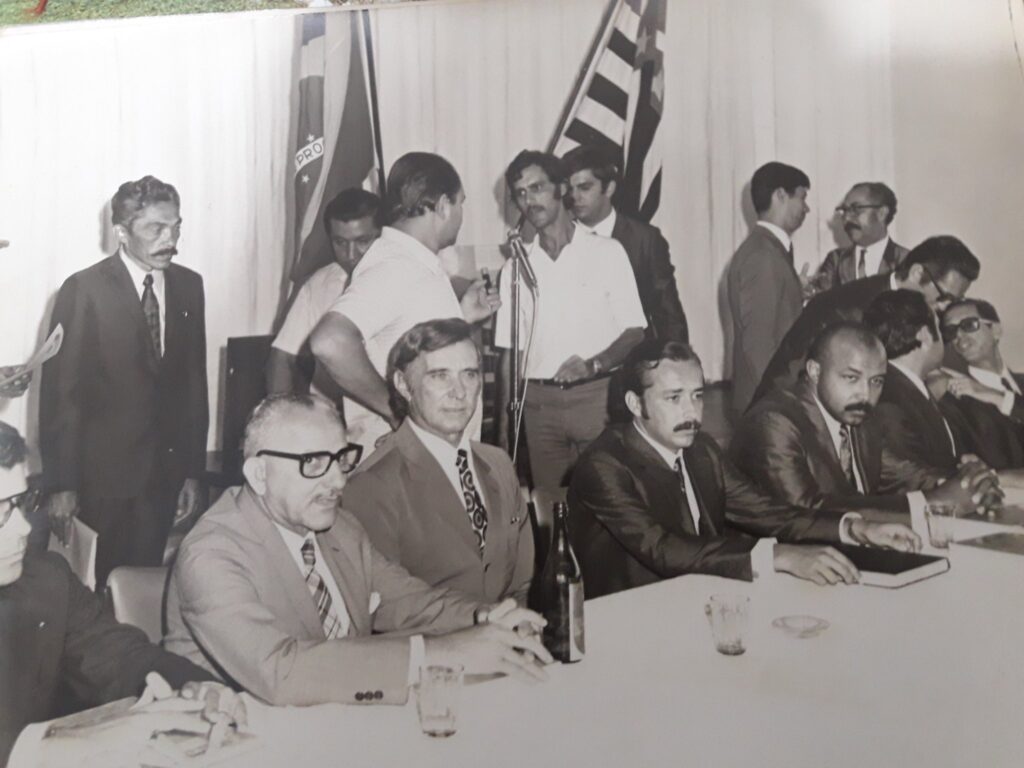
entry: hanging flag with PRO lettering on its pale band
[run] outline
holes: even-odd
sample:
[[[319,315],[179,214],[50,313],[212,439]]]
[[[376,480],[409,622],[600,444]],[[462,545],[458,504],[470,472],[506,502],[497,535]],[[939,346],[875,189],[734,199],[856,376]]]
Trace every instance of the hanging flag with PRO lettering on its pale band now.
[[[295,254],[286,270],[301,283],[332,258],[321,223],[342,189],[380,191],[380,141],[369,14],[304,13],[295,151]]]

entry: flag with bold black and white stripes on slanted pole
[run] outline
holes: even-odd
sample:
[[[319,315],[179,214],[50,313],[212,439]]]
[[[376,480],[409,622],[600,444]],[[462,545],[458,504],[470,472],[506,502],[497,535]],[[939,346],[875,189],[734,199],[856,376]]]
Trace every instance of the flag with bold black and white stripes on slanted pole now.
[[[662,200],[667,0],[612,0],[553,141],[559,157],[592,144],[618,159],[615,206],[650,221]]]

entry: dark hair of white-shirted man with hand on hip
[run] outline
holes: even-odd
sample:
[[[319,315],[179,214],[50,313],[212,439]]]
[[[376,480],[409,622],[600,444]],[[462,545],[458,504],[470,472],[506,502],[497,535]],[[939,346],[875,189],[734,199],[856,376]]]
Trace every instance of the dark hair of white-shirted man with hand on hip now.
[[[384,197],[384,221],[393,224],[432,211],[437,201],[455,201],[462,189],[459,172],[440,155],[410,152],[391,166]]]

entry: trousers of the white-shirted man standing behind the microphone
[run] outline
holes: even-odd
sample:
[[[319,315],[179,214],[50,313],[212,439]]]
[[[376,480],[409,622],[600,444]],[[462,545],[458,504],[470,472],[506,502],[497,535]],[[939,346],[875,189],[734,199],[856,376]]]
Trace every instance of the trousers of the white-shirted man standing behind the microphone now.
[[[523,421],[534,487],[557,488],[608,423],[608,379],[562,389],[530,381]]]

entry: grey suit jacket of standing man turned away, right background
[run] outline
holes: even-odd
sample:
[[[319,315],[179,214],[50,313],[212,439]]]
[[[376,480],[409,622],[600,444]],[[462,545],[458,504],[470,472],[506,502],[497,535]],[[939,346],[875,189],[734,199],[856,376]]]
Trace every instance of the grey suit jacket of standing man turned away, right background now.
[[[755,225],[726,276],[732,314],[732,407],[742,413],[772,353],[804,305],[793,258],[774,234]]]

